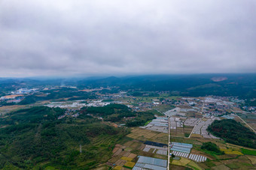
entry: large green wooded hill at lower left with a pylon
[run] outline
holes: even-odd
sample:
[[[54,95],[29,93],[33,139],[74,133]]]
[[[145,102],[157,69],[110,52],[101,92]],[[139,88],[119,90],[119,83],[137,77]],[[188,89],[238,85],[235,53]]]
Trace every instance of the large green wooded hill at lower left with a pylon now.
[[[1,118],[0,169],[93,169],[128,133],[88,115],[58,120],[64,112],[33,107]]]

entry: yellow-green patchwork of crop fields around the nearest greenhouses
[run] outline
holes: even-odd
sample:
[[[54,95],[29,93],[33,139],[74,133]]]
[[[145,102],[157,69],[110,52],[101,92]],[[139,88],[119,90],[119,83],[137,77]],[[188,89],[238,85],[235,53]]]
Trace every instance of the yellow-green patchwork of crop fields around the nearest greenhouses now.
[[[256,166],[256,151],[245,149],[237,145],[231,145],[219,139],[204,139],[203,136],[194,136],[187,139],[184,136],[172,137],[173,142],[184,142],[193,144],[190,154],[202,155],[207,158],[206,162],[197,163],[188,157],[175,157],[171,160],[171,169],[254,169]],[[167,156],[160,152],[161,148],[150,147],[145,145],[145,141],[160,142],[167,144],[167,134],[158,133],[152,130],[142,129],[140,127],[133,128],[126,139],[115,146],[113,156],[108,163],[108,166],[113,169],[132,169],[138,159],[137,156],[167,159]],[[206,152],[200,149],[203,142],[215,142],[224,155],[216,155],[214,153]],[[161,150],[162,151],[162,150]]]

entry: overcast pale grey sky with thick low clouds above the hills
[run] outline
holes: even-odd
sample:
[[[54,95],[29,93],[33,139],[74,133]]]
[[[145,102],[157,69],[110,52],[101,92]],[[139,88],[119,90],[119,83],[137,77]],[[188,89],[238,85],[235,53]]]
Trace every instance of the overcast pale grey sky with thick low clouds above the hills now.
[[[0,76],[256,73],[255,0],[0,0]]]

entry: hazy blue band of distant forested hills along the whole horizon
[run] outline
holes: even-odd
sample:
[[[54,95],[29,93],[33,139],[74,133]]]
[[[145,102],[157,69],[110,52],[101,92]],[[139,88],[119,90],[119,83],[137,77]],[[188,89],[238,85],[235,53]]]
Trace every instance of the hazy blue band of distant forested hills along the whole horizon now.
[[[0,79],[0,94],[18,88],[73,85],[78,89],[117,86],[121,90],[170,91],[179,96],[238,96],[256,98],[256,74],[151,75],[77,79]],[[78,97],[80,97],[80,94]],[[54,97],[54,96],[52,96]],[[32,100],[42,100],[32,98]]]

